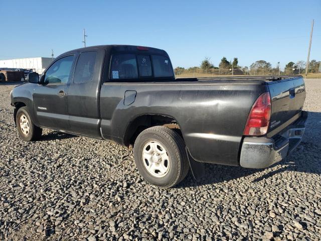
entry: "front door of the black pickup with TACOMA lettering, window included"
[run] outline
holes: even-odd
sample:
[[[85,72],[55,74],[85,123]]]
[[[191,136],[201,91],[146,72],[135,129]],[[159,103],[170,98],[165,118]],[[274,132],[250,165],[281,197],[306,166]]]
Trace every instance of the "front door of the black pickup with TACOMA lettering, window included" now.
[[[55,60],[44,73],[44,83],[34,91],[34,112],[41,127],[70,131],[67,92],[72,78],[75,55]]]

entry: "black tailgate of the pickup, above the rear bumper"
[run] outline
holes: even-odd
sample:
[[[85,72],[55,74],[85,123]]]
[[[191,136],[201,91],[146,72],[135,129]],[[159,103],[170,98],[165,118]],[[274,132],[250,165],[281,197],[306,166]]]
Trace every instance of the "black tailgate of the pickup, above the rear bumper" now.
[[[271,81],[271,118],[268,136],[272,137],[300,117],[305,100],[304,80],[301,76]]]

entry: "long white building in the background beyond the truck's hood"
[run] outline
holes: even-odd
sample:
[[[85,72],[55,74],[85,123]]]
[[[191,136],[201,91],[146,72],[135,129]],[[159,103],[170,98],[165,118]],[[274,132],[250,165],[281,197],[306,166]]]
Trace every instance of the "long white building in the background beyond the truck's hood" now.
[[[51,62],[52,58],[45,57],[6,59],[0,60],[0,68],[33,69],[42,74]]]

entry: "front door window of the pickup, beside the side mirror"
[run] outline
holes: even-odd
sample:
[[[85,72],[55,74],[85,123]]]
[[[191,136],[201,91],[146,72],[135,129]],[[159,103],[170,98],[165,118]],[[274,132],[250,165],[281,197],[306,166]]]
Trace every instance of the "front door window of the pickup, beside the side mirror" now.
[[[45,83],[66,84],[71,72],[74,56],[67,56],[57,60],[45,73]]]

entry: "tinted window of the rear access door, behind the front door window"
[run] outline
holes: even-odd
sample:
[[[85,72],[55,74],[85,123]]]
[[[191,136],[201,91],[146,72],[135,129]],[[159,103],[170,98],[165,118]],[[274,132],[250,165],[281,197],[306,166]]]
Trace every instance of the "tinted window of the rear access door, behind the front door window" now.
[[[77,61],[74,83],[88,82],[94,75],[97,52],[81,53]]]

